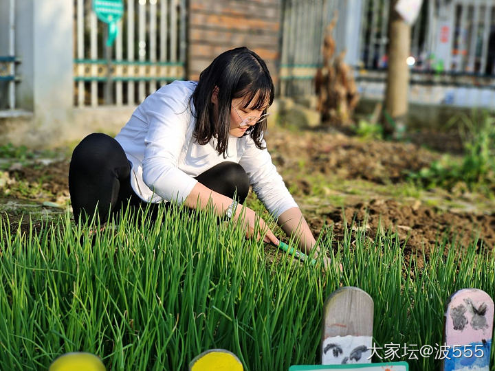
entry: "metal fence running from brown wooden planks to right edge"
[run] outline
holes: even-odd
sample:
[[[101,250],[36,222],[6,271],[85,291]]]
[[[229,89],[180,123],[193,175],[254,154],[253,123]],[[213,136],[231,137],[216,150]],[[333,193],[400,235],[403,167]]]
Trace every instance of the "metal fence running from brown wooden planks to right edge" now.
[[[349,61],[358,70],[358,80],[384,81],[385,72],[380,74],[380,70],[386,69],[388,62],[390,1],[355,2],[360,13],[350,13],[351,18],[339,14],[335,30],[343,22],[360,25],[360,32],[354,40],[336,36],[337,49],[358,45],[357,58]],[[316,69],[322,64],[323,33],[339,5],[342,3],[325,0],[283,1],[282,95],[313,92]],[[423,1],[411,30],[411,56],[415,58],[412,84],[494,89],[495,0]]]

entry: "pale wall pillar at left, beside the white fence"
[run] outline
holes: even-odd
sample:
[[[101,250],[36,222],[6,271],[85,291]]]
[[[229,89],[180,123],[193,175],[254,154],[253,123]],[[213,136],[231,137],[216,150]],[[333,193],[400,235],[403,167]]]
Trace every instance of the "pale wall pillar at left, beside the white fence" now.
[[[7,5],[8,9],[9,3],[0,1],[0,34],[5,30],[4,8]],[[65,136],[73,125],[74,2],[16,0],[15,6],[15,51],[21,60],[16,75],[21,81],[16,84],[17,111],[9,115],[0,107],[4,109],[0,112],[0,144],[47,146]],[[3,36],[0,47],[1,54],[7,55]],[[19,111],[31,114],[17,120]],[[21,142],[17,138],[22,138]]]

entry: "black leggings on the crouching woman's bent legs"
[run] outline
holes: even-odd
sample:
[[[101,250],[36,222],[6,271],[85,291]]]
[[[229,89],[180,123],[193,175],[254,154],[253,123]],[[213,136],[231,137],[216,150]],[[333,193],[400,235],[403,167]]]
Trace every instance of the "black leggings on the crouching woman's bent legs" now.
[[[224,161],[195,177],[199,183],[243,203],[249,192],[249,178],[243,167]],[[76,223],[84,223],[98,207],[100,221],[107,221],[109,212],[118,214],[129,202],[135,212],[146,208],[131,187],[131,165],[120,144],[102,133],[85,137],[72,153],[69,167],[69,192]],[[157,203],[151,203],[151,218],[156,218]]]

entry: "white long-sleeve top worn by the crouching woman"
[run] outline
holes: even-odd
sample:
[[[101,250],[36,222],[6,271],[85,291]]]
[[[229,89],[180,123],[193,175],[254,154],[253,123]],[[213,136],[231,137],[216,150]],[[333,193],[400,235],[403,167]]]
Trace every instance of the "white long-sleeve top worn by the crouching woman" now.
[[[244,168],[256,196],[276,218],[296,207],[270,153],[256,148],[249,135],[230,135],[226,158],[215,150],[216,139],[204,146],[196,142],[194,106],[189,104],[196,86],[193,81],[174,81],[148,95],[115,137],[131,162],[135,193],[147,202],[183,202],[197,183],[193,177],[233,161]]]

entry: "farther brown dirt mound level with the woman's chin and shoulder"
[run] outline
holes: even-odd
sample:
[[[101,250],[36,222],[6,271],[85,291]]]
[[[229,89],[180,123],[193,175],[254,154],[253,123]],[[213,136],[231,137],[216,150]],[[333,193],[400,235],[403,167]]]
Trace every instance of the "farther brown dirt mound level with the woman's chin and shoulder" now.
[[[417,144],[362,141],[340,133],[306,132],[291,136],[273,131],[267,141],[277,167],[301,167],[304,161],[301,170],[307,174],[319,172],[382,184],[405,181],[406,172],[418,171],[440,157]]]

